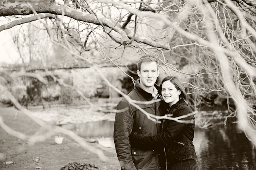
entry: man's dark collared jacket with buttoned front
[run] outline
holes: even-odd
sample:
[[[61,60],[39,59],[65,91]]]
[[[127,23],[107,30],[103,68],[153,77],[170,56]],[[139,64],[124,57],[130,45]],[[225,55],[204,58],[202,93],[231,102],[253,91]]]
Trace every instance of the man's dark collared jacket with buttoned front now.
[[[155,86],[159,88],[158,86]],[[157,89],[158,90],[158,89]],[[133,91],[128,96],[135,101],[154,100],[152,94],[145,92],[137,80]],[[160,97],[160,95],[157,95]],[[156,98],[157,98],[156,97]],[[141,109],[149,114],[156,115],[160,102],[154,104],[137,104]],[[153,149],[142,150],[130,145],[129,135],[137,132],[143,135],[156,135],[161,129],[161,124],[156,124],[149,120],[147,116],[137,107],[122,99],[117,110],[124,109],[116,113],[114,123],[114,142],[117,157],[122,170],[159,170],[160,163],[157,152]]]

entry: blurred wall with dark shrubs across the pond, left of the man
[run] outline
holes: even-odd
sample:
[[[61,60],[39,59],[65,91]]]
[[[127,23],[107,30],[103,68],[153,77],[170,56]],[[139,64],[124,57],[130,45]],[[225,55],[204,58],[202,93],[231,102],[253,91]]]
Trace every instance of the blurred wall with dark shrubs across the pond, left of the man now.
[[[101,70],[111,84],[121,89],[122,83],[119,81],[119,78],[123,77],[123,72],[118,72],[119,69],[116,67],[104,67]],[[5,80],[3,83],[8,84],[12,94],[24,107],[46,106],[47,104],[86,104],[76,90],[81,91],[86,98],[119,98],[119,94],[109,88],[92,68],[55,70],[53,77],[50,75],[43,77],[47,80],[47,85],[41,83],[36,78],[25,76],[17,77],[13,80],[11,77],[9,78],[10,80],[3,76],[0,78]],[[4,96],[0,97],[1,104],[12,105],[9,99]],[[114,101],[114,99],[110,101]]]

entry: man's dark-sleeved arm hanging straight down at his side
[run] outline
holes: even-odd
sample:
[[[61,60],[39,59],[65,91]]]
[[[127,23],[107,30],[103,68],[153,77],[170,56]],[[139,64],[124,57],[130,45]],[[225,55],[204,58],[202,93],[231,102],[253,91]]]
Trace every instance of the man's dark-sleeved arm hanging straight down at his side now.
[[[131,144],[129,135],[131,134],[134,115],[130,104],[121,100],[117,104],[117,110],[126,109],[116,113],[114,123],[114,142],[116,153],[122,170],[137,170],[131,157]]]

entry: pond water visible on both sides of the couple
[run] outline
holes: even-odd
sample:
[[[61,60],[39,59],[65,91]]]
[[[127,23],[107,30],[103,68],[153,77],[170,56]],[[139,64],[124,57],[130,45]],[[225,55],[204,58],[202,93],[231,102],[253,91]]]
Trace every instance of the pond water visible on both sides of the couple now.
[[[99,144],[114,148],[113,125],[113,121],[96,121],[62,127],[84,138],[98,138]],[[256,170],[256,146],[236,124],[196,127],[193,143],[201,170]]]

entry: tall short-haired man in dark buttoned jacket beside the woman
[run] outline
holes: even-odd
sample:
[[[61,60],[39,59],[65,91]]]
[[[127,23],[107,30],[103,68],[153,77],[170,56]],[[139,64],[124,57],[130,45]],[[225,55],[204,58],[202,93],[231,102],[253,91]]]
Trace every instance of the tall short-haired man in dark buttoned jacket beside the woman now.
[[[128,96],[135,101],[155,101],[161,98],[158,86],[155,85],[159,76],[158,61],[152,55],[144,55],[138,61],[137,80],[134,89]],[[156,115],[160,102],[137,104],[149,114]],[[126,99],[119,101],[114,124],[114,142],[117,157],[122,170],[159,170],[158,154],[154,150],[142,150],[131,146],[129,135],[137,132],[142,135],[155,135],[160,132],[161,125],[145,116],[138,108],[128,103]]]

